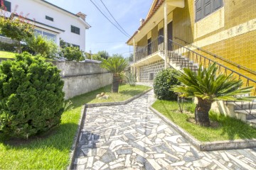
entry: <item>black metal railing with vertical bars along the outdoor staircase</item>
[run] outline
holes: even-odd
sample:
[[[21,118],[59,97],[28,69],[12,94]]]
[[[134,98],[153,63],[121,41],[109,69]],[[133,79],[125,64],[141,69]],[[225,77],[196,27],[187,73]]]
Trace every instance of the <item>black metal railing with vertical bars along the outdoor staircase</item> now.
[[[230,69],[228,67],[225,67],[223,64],[220,64],[218,62],[215,62],[208,57],[205,57],[198,52],[194,52],[193,50],[188,49],[188,47],[184,47],[183,45],[179,44],[178,42],[174,42],[173,40],[169,40],[169,43],[171,43],[172,51],[169,52],[170,60],[178,60],[178,63],[181,64],[182,67],[188,67],[189,69],[196,71],[194,66],[199,66],[202,64],[203,67],[208,67],[210,64],[216,63],[218,66],[218,73],[223,73],[225,75],[233,74],[233,79],[242,79],[244,82],[244,86],[253,86],[254,90],[247,94],[249,96],[256,96],[256,81],[253,79],[250,79],[249,77],[246,77],[243,74],[240,74],[239,72],[236,72],[233,69]],[[227,103],[228,104],[228,103]],[[235,102],[236,106],[239,106],[241,109],[246,111],[251,115],[252,113],[252,106],[253,101],[249,102],[249,108],[243,108],[244,102],[241,102],[238,104],[238,102]],[[248,110],[248,111],[247,111]],[[252,117],[254,117],[252,115]]]

